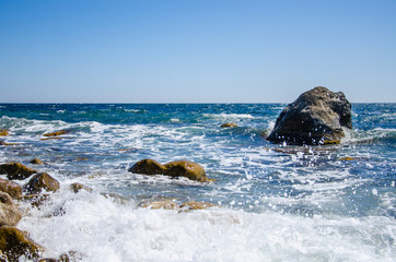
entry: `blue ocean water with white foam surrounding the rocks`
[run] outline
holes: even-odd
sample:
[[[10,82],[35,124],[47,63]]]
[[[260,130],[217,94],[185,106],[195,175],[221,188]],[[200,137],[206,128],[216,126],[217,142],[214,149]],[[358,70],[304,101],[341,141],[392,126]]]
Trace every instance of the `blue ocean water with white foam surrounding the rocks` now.
[[[15,143],[0,145],[0,163],[61,183],[39,209],[21,202],[18,227],[44,255],[81,261],[395,261],[396,104],[353,104],[341,144],[313,147],[261,135],[284,106],[0,104],[0,140]],[[42,140],[58,130],[70,132]],[[216,181],[128,172],[143,158],[194,160]],[[158,199],[218,206],[141,207]]]

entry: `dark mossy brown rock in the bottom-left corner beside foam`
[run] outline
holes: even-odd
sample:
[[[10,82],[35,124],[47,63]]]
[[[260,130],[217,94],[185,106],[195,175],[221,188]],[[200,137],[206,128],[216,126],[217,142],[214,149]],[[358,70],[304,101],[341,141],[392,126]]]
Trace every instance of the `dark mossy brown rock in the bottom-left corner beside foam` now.
[[[9,262],[19,262],[21,257],[37,260],[44,248],[33,241],[26,233],[10,226],[0,228],[0,250]]]

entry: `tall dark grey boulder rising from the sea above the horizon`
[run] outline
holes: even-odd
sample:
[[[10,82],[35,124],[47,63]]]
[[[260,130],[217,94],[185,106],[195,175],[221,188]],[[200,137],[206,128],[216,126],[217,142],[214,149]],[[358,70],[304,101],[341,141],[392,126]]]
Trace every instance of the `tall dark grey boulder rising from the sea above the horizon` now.
[[[342,92],[317,86],[299,96],[279,115],[267,140],[296,145],[339,143],[352,128],[351,104]]]

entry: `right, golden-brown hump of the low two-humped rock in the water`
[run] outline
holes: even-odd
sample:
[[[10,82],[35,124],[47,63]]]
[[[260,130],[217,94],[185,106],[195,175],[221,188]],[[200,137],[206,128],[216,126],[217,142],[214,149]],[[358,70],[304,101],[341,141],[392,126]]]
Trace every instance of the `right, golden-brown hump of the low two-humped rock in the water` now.
[[[191,180],[207,181],[207,175],[201,165],[189,160],[170,162],[164,165],[164,175],[171,177],[186,177]]]

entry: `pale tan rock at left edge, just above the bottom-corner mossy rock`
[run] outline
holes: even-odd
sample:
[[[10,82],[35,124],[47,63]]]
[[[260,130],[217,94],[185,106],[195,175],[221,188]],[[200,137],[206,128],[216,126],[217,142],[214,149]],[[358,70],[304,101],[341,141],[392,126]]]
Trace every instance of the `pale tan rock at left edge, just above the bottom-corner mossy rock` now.
[[[0,226],[16,226],[22,213],[8,193],[0,192]]]

